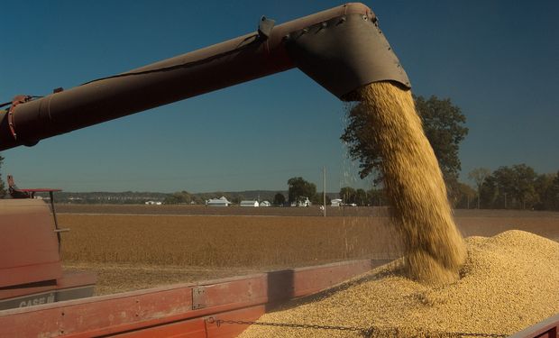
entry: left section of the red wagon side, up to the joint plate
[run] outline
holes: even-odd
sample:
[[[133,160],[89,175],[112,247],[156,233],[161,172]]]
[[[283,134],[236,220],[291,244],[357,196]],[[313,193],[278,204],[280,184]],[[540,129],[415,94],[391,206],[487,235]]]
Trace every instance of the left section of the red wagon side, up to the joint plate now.
[[[168,321],[192,308],[191,288],[156,288],[0,313],[0,337],[92,336]]]

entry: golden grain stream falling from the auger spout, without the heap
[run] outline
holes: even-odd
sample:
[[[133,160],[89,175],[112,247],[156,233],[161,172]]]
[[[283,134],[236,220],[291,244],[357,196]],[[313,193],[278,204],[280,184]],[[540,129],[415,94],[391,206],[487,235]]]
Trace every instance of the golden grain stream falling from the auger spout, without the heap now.
[[[463,239],[411,92],[378,82],[362,87],[360,96],[382,159],[380,169],[408,276],[430,284],[456,280],[465,259]]]

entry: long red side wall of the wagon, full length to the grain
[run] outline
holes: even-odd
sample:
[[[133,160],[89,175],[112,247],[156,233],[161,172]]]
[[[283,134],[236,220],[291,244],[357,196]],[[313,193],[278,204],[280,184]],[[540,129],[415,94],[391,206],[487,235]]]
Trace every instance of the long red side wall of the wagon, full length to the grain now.
[[[251,321],[264,313],[270,301],[307,295],[370,267],[370,260],[354,260],[8,310],[0,313],[0,336],[135,336],[136,332],[143,334],[140,336],[167,336],[175,334],[177,327],[191,327],[197,337],[197,324],[186,324],[192,319],[217,314],[221,319],[232,315],[229,318]],[[194,297],[193,290],[203,292]],[[193,308],[193,298],[197,309]],[[207,328],[214,336],[229,337],[244,327],[230,324]]]

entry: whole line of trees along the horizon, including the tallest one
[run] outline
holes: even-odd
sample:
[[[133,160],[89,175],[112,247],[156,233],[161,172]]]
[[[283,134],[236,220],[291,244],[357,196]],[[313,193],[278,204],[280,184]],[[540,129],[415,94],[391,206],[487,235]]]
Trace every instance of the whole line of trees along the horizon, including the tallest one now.
[[[461,109],[450,99],[431,96],[414,96],[417,114],[421,117],[426,138],[430,142],[439,167],[443,172],[451,204],[456,208],[485,209],[535,209],[559,210],[559,172],[538,174],[526,164],[499,167],[491,171],[486,168],[473,169],[468,178],[474,182],[470,187],[458,180],[461,162],[458,157],[459,145],[468,134],[464,126],[466,118]],[[379,143],[370,117],[361,104],[353,105],[347,116],[348,123],[340,139],[346,144],[349,155],[360,164],[360,177],[372,178],[374,187],[370,190],[343,187],[339,196],[345,204],[356,206],[383,206],[384,192],[380,166]],[[4,158],[0,156],[0,169]],[[215,194],[190,194],[180,191],[165,198],[166,204],[200,204]],[[0,177],[0,198],[5,197],[5,183]],[[288,180],[287,198],[278,192],[273,196],[276,206],[298,205],[307,198],[314,204],[323,203],[322,193],[316,192],[316,185],[304,178]],[[221,195],[220,195],[221,196]],[[245,199],[243,194],[223,193],[230,201],[238,203]],[[265,199],[271,199],[267,196]],[[330,196],[327,196],[327,204]]]

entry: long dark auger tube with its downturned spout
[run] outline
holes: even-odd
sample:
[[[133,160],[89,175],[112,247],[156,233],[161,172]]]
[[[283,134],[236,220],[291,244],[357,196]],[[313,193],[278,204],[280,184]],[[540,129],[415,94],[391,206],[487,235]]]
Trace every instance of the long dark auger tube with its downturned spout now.
[[[335,96],[406,72],[366,5],[346,4],[0,110],[0,151],[298,67]]]

